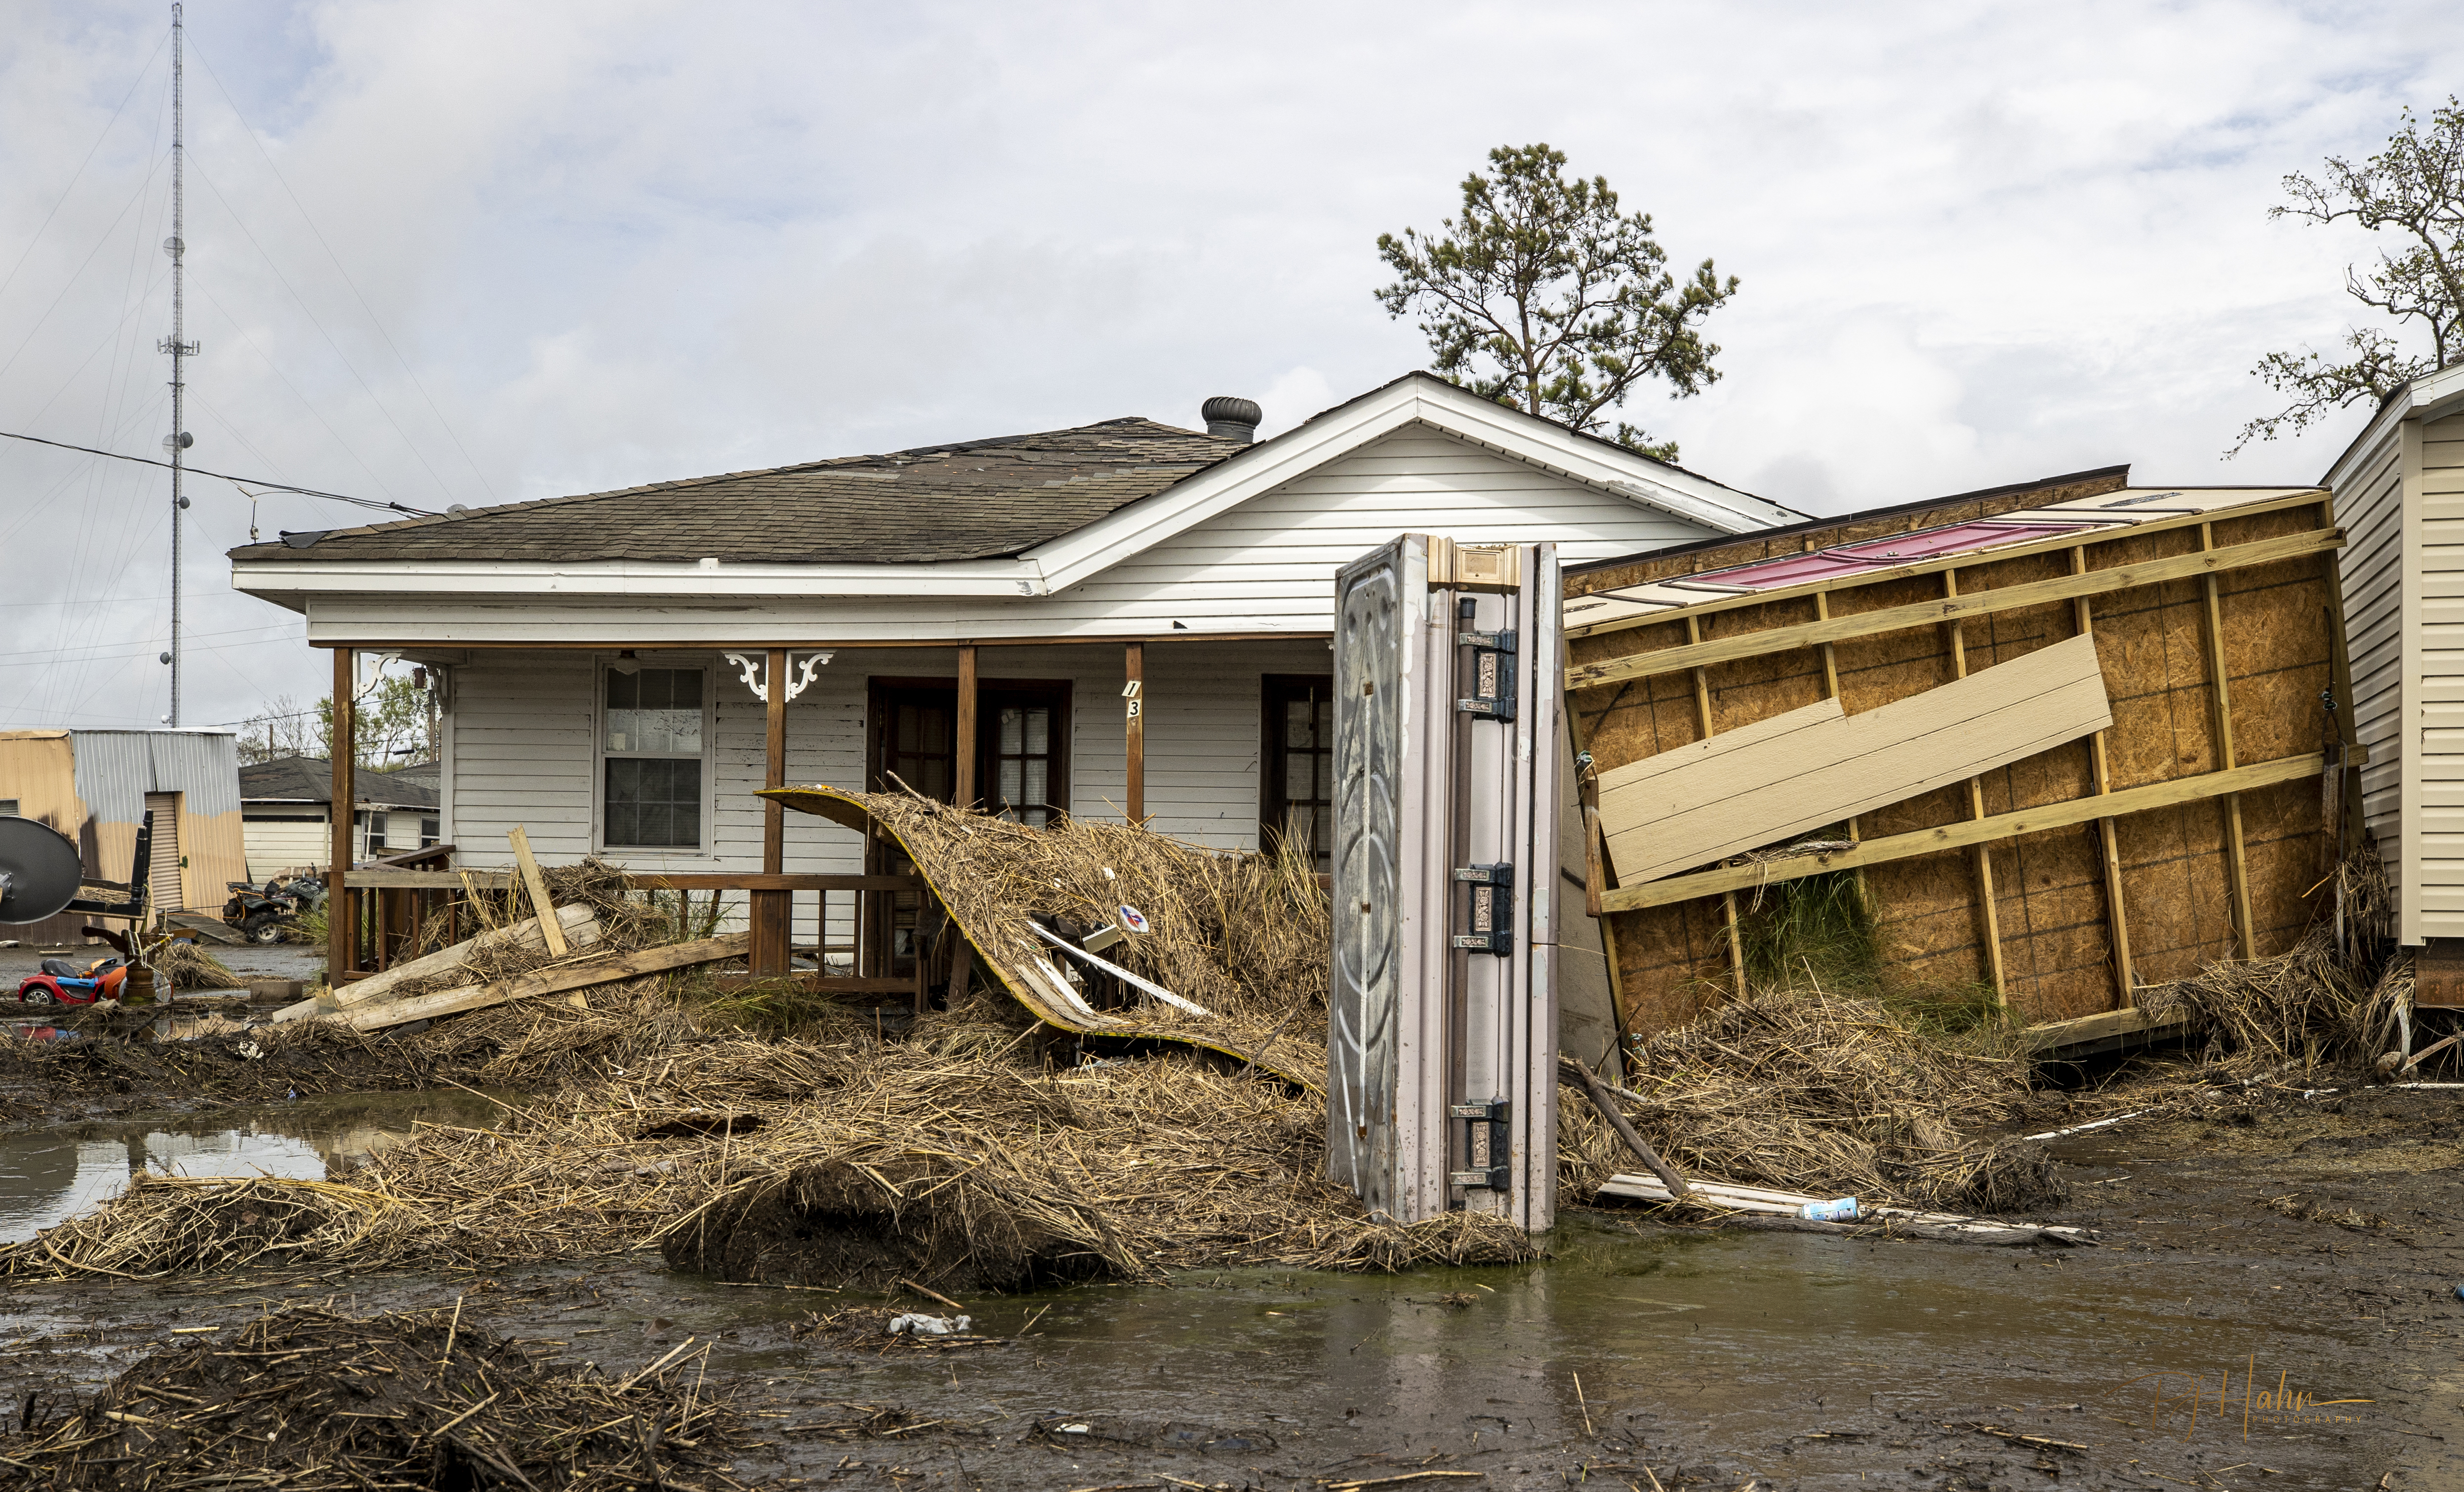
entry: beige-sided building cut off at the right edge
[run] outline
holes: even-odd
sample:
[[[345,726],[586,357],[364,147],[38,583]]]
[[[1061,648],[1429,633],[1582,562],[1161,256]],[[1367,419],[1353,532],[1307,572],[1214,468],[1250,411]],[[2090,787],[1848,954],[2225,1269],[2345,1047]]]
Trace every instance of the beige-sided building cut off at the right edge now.
[[[2397,941],[2464,955],[2464,364],[2380,404],[2326,485],[2348,534],[2363,822],[2395,886]]]

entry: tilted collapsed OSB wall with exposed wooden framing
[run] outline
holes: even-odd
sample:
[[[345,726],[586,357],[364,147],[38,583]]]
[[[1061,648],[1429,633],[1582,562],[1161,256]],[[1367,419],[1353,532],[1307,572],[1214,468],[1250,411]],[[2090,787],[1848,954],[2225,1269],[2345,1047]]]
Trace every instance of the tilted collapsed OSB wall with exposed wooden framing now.
[[[2141,985],[2301,936],[2309,891],[2358,832],[2356,793],[2324,793],[2326,776],[2358,766],[2351,712],[2324,704],[2348,699],[2331,495],[2122,492],[2119,473],[2092,473],[1570,576],[1567,712],[1599,783],[1589,896],[1629,1032],[1730,997],[1754,918],[1774,916],[1786,881],[1818,874],[1858,879],[1892,980],[1944,995],[1991,987],[2025,1022],[2126,1007]],[[1794,566],[1954,524],[1993,547],[1927,556],[1910,544],[1917,559],[1887,569]],[[2028,539],[2001,542],[1993,524]],[[1784,574],[1767,564],[1779,559],[1791,561]],[[1710,574],[1747,564],[1759,574],[1737,579],[1789,584],[1749,591]],[[1577,628],[1579,616],[1599,620]],[[1643,842],[1624,854],[1597,842],[1611,783],[1685,780],[1636,766],[1658,753],[1717,758],[1700,744],[1752,726],[1767,736],[1767,721],[1826,699],[1855,721],[2082,638],[2107,729],[2077,731],[2097,721],[2075,712],[2048,724],[2048,739],[2070,739],[1959,780],[1932,771],[1954,753],[1885,756],[1875,793],[1841,795],[1853,817],[1814,832],[1818,852],[1725,844],[1710,849],[1725,862],[1668,864]],[[1784,793],[1786,773],[1774,780]],[[1683,815],[1683,803],[1658,803],[1616,822]],[[1774,808],[1762,822],[1794,840],[1801,817]],[[1619,881],[1619,864],[1643,869]]]

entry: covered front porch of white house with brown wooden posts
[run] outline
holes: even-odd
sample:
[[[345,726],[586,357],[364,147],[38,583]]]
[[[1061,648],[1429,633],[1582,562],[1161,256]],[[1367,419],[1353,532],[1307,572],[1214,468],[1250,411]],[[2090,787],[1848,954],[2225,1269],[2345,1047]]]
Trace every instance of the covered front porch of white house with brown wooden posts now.
[[[749,933],[747,977],[922,1007],[966,977],[912,867],[761,788],[914,790],[1020,822],[1138,822],[1222,849],[1274,832],[1326,852],[1323,633],[744,645],[335,645],[335,699],[370,657],[441,677],[446,844],[335,886],[330,968],[365,977],[473,889],[599,857]],[[335,712],[350,793],[352,712]],[[345,844],[335,862],[350,864]]]

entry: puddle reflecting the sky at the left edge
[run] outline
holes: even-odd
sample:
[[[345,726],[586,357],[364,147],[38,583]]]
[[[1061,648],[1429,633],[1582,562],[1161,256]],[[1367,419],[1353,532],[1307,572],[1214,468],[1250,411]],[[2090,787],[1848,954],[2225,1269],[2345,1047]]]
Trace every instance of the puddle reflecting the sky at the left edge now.
[[[59,1032],[74,1037],[76,1032]],[[32,1238],[121,1194],[138,1169],[177,1177],[298,1177],[365,1165],[414,1123],[493,1125],[480,1093],[328,1093],[195,1118],[99,1118],[0,1135],[0,1243]]]

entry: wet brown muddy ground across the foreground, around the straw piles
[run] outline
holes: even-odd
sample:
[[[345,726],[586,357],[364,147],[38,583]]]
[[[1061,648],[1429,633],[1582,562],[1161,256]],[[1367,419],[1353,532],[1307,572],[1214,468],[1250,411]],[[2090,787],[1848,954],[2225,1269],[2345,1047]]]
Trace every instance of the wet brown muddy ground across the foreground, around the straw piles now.
[[[54,1059],[57,1061],[57,1059]],[[170,1059],[160,1059],[170,1061]],[[441,1071],[96,1054],[0,1073],[15,1128]],[[444,1064],[451,1066],[451,1064]],[[687,1337],[759,1426],[737,1477],[848,1487],[2464,1487],[2457,1091],[2045,1093],[2097,1248],[1567,1214],[1530,1268],[1220,1273],[968,1300],[966,1347],[798,1334],[848,1297],[616,1265],[10,1283],[0,1403],[89,1394],[175,1330],[283,1302],[451,1307],[633,1371]],[[126,1083],[126,1091],[118,1088]],[[271,1115],[274,1110],[246,1110]],[[251,1118],[249,1123],[259,1123]],[[907,1300],[904,1305],[922,1305]],[[2301,1408],[2292,1406],[2301,1396]],[[5,1455],[5,1448],[0,1448]],[[0,1472],[7,1467],[0,1465]],[[1461,1472],[1478,1472],[1476,1477]]]

